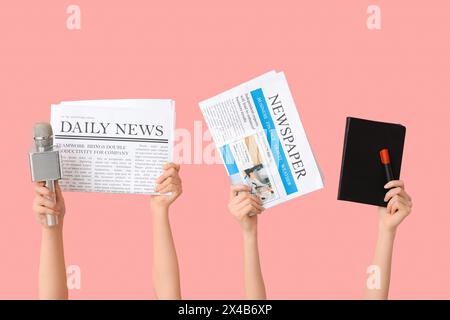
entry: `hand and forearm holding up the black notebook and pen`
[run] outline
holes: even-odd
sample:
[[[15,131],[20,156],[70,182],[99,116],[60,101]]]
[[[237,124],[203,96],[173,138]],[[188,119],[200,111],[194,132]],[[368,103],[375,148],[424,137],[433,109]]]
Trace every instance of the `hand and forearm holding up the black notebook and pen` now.
[[[378,239],[372,263],[380,270],[380,288],[369,289],[366,286],[366,299],[388,299],[395,234],[397,227],[412,209],[412,199],[406,193],[403,181],[392,180],[384,188],[390,189],[384,198],[388,204],[386,208],[378,208]]]

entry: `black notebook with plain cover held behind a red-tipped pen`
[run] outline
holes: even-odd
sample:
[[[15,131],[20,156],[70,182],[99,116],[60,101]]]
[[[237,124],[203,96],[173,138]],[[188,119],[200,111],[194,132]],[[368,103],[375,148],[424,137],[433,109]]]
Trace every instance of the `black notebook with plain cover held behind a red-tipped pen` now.
[[[399,179],[405,133],[400,124],[348,117],[338,200],[386,207],[387,180],[379,152],[389,150],[393,177]]]

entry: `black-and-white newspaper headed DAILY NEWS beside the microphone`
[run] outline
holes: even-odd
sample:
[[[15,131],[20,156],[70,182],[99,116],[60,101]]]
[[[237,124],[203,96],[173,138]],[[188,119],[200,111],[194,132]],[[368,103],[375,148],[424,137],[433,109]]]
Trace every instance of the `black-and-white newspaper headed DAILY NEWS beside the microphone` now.
[[[173,100],[85,100],[51,107],[64,191],[155,194],[172,161]]]

